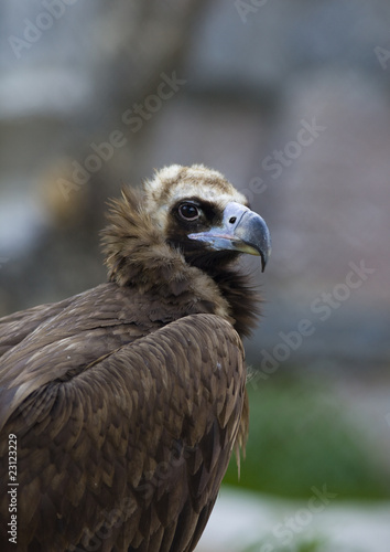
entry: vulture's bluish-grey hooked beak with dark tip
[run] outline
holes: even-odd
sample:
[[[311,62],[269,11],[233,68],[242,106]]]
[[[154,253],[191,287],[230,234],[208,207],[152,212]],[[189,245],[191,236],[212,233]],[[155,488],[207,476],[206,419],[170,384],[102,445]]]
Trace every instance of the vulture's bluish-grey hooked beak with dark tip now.
[[[221,226],[189,234],[188,237],[205,242],[215,251],[231,250],[260,255],[262,272],[271,253],[271,237],[264,220],[235,201],[226,205]]]

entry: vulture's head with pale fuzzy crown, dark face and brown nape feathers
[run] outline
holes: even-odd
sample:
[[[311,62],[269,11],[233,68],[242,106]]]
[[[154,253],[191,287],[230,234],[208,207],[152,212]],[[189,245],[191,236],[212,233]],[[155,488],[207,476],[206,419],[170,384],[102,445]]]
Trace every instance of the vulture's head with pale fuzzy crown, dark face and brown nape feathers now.
[[[263,219],[220,172],[202,164],[156,171],[141,198],[124,189],[108,219],[106,263],[119,285],[137,282],[148,289],[162,284],[166,269],[172,274],[163,279],[176,280],[186,272],[183,263],[218,278],[242,253],[259,255],[263,270],[271,252]]]

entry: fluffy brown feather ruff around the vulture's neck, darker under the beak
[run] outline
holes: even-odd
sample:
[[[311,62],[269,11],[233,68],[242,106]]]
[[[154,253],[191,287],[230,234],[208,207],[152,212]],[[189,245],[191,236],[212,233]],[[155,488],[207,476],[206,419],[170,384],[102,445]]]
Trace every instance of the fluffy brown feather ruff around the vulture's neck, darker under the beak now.
[[[195,301],[203,311],[228,319],[241,336],[256,326],[259,297],[248,278],[232,267],[192,266],[165,242],[161,227],[142,206],[142,197],[127,188],[112,200],[101,232],[110,282],[155,294],[162,300]]]

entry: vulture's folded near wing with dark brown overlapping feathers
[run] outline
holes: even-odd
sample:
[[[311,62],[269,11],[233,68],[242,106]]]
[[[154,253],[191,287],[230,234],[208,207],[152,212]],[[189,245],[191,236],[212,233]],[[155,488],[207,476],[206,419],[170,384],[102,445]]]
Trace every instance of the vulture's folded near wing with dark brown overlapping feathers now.
[[[18,550],[193,550],[239,432],[245,380],[232,327],[192,315],[35,389],[1,438],[1,457],[18,438]]]

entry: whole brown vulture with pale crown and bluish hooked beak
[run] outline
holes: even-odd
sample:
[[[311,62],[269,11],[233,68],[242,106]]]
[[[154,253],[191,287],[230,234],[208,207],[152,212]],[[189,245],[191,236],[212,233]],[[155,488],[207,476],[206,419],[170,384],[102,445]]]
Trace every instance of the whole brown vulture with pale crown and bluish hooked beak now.
[[[245,449],[263,219],[202,164],[107,216],[107,283],[0,319],[1,551],[192,551]]]

